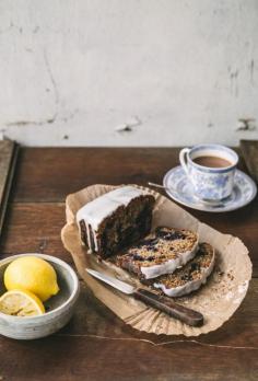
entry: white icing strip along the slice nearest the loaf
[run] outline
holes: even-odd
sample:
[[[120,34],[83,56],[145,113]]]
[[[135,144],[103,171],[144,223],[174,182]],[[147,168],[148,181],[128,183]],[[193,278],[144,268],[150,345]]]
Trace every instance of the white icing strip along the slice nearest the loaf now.
[[[192,259],[198,251],[198,243],[195,244],[191,251],[179,253],[175,259],[169,259],[160,265],[141,266],[141,273],[145,276],[145,279],[156,278],[164,274],[172,274],[180,266],[184,266],[187,262]]]

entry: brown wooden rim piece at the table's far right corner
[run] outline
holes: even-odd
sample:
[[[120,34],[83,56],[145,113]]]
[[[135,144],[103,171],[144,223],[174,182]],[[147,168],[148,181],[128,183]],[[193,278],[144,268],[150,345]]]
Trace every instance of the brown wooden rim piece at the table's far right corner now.
[[[258,183],[258,140],[241,140],[241,150],[250,175]]]

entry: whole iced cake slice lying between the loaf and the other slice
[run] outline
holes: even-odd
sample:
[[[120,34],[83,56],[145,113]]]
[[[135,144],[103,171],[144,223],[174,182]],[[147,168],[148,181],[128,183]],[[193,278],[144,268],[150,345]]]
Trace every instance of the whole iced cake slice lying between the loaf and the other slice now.
[[[138,276],[151,279],[194,258],[198,250],[198,235],[190,230],[157,228],[154,233],[117,257],[117,265]]]

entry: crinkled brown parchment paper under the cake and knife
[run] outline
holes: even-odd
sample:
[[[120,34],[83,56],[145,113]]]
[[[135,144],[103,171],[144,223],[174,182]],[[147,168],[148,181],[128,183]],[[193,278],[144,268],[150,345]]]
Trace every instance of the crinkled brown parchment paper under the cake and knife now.
[[[144,303],[134,300],[109,286],[92,278],[86,267],[102,270],[106,274],[131,284],[139,281],[127,272],[103,261],[97,263],[94,254],[87,254],[81,245],[79,230],[74,216],[80,207],[116,188],[112,185],[92,185],[75,194],[69,195],[66,200],[67,224],[61,231],[64,247],[71,253],[77,269],[96,298],[105,303],[117,316],[139,331],[154,334],[198,336],[219,328],[239,307],[245,298],[251,277],[251,262],[248,250],[236,236],[222,234],[206,223],[201,223],[186,210],[177,206],[161,194],[148,189],[155,196],[156,203],[153,212],[153,228],[167,226],[191,229],[199,233],[200,242],[209,242],[215,247],[215,269],[207,285],[198,291],[175,300],[186,307],[201,312],[204,324],[201,327],[191,327]],[[146,189],[140,187],[142,189]],[[86,319],[86,316],[85,316]]]

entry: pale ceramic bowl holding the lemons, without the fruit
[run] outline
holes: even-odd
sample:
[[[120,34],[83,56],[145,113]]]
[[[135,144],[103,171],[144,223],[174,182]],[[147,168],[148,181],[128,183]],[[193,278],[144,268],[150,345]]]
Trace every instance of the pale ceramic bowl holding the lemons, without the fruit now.
[[[7,266],[22,256],[37,256],[49,262],[57,273],[59,292],[45,302],[46,313],[38,316],[11,316],[0,312],[0,334],[16,339],[48,336],[63,327],[71,319],[79,297],[77,274],[63,261],[45,254],[19,254],[0,261],[0,296],[5,292],[3,274]]]

